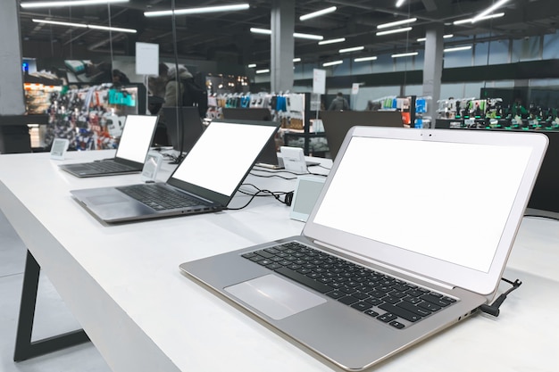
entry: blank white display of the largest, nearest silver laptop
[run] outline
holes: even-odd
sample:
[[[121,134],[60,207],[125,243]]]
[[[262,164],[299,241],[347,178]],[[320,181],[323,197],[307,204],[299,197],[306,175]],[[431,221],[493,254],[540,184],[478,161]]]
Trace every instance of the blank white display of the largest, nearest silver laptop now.
[[[488,272],[530,154],[530,147],[353,137],[313,221]],[[361,246],[348,250],[371,256]]]

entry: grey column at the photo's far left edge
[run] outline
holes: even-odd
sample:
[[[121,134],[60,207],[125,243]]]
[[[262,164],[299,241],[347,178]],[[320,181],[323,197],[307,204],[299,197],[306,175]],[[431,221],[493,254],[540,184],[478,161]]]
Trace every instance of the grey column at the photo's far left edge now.
[[[4,0],[0,12],[0,116],[25,113],[21,76],[19,1]]]

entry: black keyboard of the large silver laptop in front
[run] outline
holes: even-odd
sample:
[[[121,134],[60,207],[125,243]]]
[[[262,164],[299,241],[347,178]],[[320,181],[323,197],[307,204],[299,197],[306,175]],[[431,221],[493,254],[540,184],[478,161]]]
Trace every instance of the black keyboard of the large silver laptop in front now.
[[[296,242],[243,257],[398,329],[456,302]]]

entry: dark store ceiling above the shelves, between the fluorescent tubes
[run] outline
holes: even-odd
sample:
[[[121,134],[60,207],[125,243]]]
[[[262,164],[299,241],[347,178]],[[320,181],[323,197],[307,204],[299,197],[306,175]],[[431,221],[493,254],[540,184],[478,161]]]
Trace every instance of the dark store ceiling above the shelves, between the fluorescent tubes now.
[[[29,0],[21,0],[29,1]],[[37,1],[37,0],[36,0]],[[176,8],[238,4],[238,1],[215,0],[186,2],[177,0]],[[495,0],[496,2],[496,0]],[[194,4],[193,4],[194,3]],[[176,37],[179,57],[239,64],[270,61],[270,37],[252,34],[250,28],[270,29],[272,1],[249,0],[250,9],[240,12],[219,12],[177,16]],[[295,56],[308,62],[338,59],[340,48],[363,45],[365,49],[352,57],[414,51],[422,48],[417,42],[426,29],[435,24],[444,26],[446,45],[464,44],[464,38],[481,35],[491,39],[521,39],[555,33],[559,27],[557,0],[510,0],[499,12],[505,17],[480,21],[474,25],[453,25],[453,21],[471,18],[494,1],[489,0],[406,0],[396,8],[396,0],[296,0],[296,32],[321,35],[325,39],[346,37],[346,42],[318,45],[316,41],[296,38]],[[338,10],[309,21],[300,15],[336,5]],[[64,59],[94,58],[113,53],[133,54],[137,41],[155,43],[162,55],[173,55],[171,17],[146,18],[145,11],[171,8],[171,0],[130,0],[128,4],[73,6],[52,9],[21,9],[21,38],[25,57]],[[415,17],[409,33],[376,36],[380,23]],[[98,31],[93,29],[53,26],[31,21],[51,19],[113,27],[137,29],[137,34]],[[112,38],[111,38],[112,37]],[[112,49],[111,49],[112,48]],[[29,55],[40,54],[40,55]]]

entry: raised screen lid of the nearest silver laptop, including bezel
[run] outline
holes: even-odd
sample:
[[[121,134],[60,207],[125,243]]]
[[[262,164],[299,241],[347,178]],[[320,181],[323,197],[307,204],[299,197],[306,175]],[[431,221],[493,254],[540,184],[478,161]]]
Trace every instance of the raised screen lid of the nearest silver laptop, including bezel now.
[[[362,260],[494,293],[546,136],[352,128],[304,235]]]

